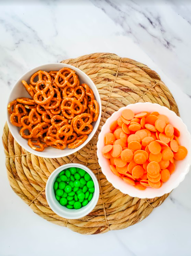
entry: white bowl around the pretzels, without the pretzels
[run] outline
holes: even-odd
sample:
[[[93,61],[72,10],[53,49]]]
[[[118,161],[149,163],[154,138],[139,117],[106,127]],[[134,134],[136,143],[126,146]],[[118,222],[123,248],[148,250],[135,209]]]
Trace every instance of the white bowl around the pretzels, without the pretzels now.
[[[75,67],[70,66],[68,64],[63,64],[63,63],[44,64],[44,65],[32,68],[31,70],[26,72],[24,75],[22,75],[18,79],[18,81],[13,86],[13,89],[11,90],[11,93],[8,97],[7,105],[8,105],[9,102],[11,102],[12,100],[15,100],[16,98],[20,98],[20,97],[29,97],[30,98],[28,92],[25,90],[25,87],[21,83],[22,80],[25,80],[28,83],[30,83],[30,77],[35,72],[37,72],[38,70],[44,70],[44,71],[60,70],[63,67],[67,67],[67,68],[71,68],[71,69],[75,70],[76,74],[79,76],[80,83],[86,83],[91,88],[91,90],[93,90],[95,99],[97,100],[97,102],[99,104],[100,114],[99,114],[98,120],[96,122],[92,123],[93,131],[88,135],[87,140],[82,145],[80,145],[79,147],[77,147],[75,149],[69,149],[68,147],[66,147],[64,150],[56,149],[54,147],[48,147],[48,148],[45,148],[44,151],[38,152],[38,151],[35,151],[34,149],[32,149],[31,147],[29,147],[27,139],[23,139],[21,137],[21,135],[19,134],[20,128],[18,128],[16,126],[13,126],[13,124],[11,124],[10,114],[7,112],[8,128],[11,131],[11,134],[13,135],[14,139],[19,143],[19,145],[21,145],[21,147],[23,147],[28,152],[30,152],[30,153],[32,153],[36,156],[41,156],[41,157],[44,157],[44,158],[59,158],[59,157],[69,156],[69,155],[75,153],[76,151],[79,151],[81,148],[83,148],[93,138],[93,135],[96,133],[96,130],[98,129],[98,126],[100,124],[100,119],[101,119],[101,114],[102,114],[102,103],[101,103],[100,95],[99,95],[98,89],[96,88],[96,85],[79,68],[75,68]]]

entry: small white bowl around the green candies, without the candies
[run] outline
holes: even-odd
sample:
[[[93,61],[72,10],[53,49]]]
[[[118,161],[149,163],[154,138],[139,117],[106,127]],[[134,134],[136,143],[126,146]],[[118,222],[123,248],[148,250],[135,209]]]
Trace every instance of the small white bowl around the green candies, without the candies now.
[[[93,179],[94,188],[95,188],[93,197],[92,197],[91,201],[89,201],[89,203],[86,206],[83,206],[81,209],[68,209],[65,206],[62,206],[55,198],[54,188],[53,188],[54,182],[55,182],[58,174],[61,171],[68,169],[70,167],[76,167],[76,168],[83,169],[84,171],[89,173],[89,175]],[[55,169],[55,171],[53,171],[53,173],[51,173],[51,175],[47,181],[45,192],[46,192],[47,202],[48,202],[49,206],[51,207],[51,209],[57,215],[59,215],[60,217],[66,218],[66,219],[79,219],[79,218],[86,216],[88,213],[90,213],[94,209],[94,207],[98,203],[98,199],[100,196],[100,188],[99,188],[99,184],[98,184],[98,180],[96,179],[96,176],[87,166],[82,165],[82,164],[64,164],[64,165],[58,167],[57,169]]]

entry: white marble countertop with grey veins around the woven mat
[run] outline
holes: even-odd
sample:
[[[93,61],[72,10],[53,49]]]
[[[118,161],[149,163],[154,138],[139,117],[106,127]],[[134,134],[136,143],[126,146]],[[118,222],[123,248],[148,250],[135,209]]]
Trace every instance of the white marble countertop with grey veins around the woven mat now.
[[[191,132],[191,2],[76,0],[0,2],[0,129],[15,81],[48,62],[111,52],[153,68]],[[145,220],[83,236],[40,218],[9,186],[0,146],[0,256],[190,256],[191,172]]]

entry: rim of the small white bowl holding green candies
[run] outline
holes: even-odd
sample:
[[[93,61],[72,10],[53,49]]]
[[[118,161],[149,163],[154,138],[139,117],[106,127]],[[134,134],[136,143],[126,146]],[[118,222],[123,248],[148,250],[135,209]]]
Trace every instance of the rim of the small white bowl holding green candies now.
[[[55,177],[57,177],[59,172],[61,172],[62,170],[65,170],[67,168],[70,168],[70,167],[81,168],[84,171],[86,171],[87,173],[89,173],[89,175],[93,179],[94,188],[95,188],[95,191],[93,193],[93,198],[90,201],[91,205],[89,205],[89,207],[85,206],[86,208],[83,207],[80,209],[71,209],[71,212],[74,212],[74,213],[76,213],[76,211],[81,212],[81,213],[79,213],[79,215],[77,215],[77,217],[75,216],[75,218],[72,218],[72,216],[70,215],[71,213],[68,213],[68,215],[67,215],[67,213],[66,214],[64,213],[62,215],[57,211],[57,209],[55,208],[55,203],[54,203],[57,200],[56,200],[56,198],[53,198],[52,193],[51,193],[51,186],[53,186]],[[55,169],[49,176],[47,183],[46,183],[45,195],[46,195],[47,203],[49,204],[49,207],[51,208],[51,210],[53,212],[55,212],[57,215],[59,215],[62,218],[67,218],[69,220],[75,220],[75,219],[85,217],[87,214],[89,214],[95,208],[96,204],[98,203],[99,196],[100,196],[100,186],[98,183],[98,179],[96,178],[96,175],[87,166],[85,166],[83,164],[78,164],[78,163],[63,164],[63,165],[59,166],[57,169]],[[61,211],[62,210],[64,211],[64,207],[62,205],[59,207],[60,207]]]

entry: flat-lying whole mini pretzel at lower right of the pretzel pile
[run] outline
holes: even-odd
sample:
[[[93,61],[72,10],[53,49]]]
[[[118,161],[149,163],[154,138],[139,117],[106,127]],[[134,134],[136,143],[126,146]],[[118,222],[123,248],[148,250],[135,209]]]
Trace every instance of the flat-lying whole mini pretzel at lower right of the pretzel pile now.
[[[88,117],[88,119],[87,119],[87,117]],[[77,134],[87,135],[92,132],[93,126],[91,125],[91,123],[93,121],[93,118],[88,113],[83,113],[81,115],[77,115],[73,120],[74,121],[72,124],[74,127],[74,131]]]

